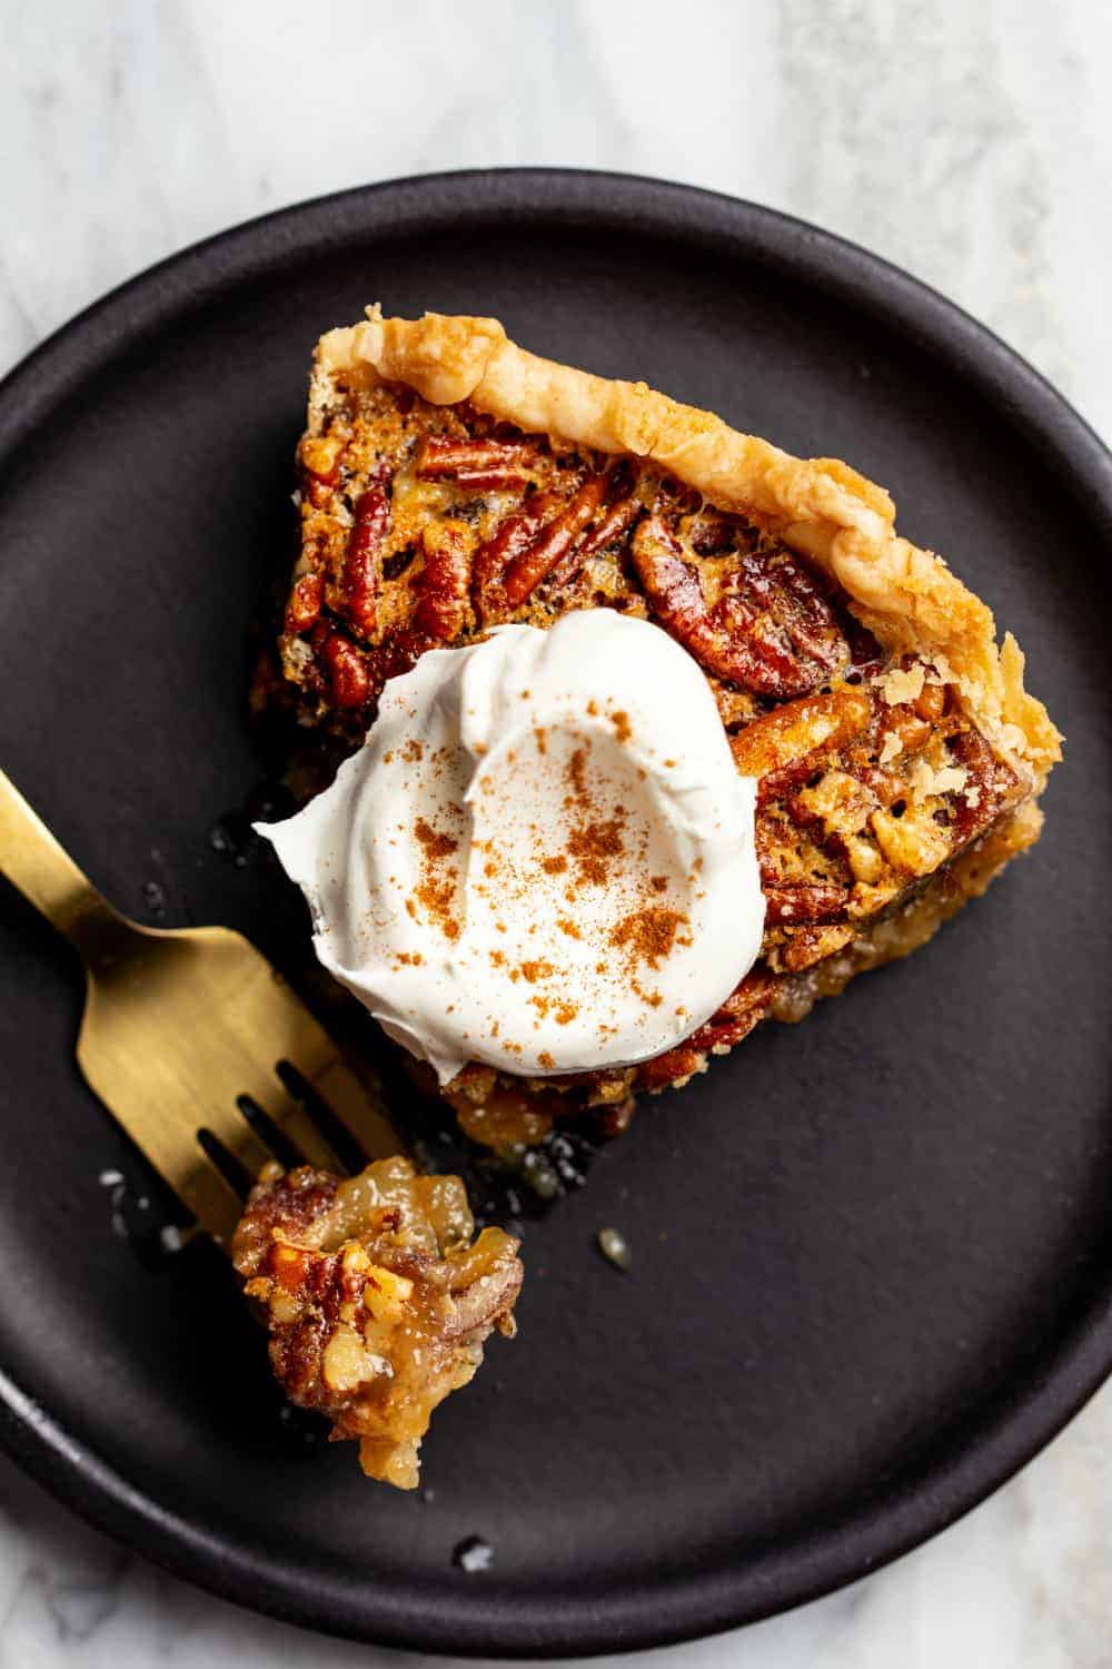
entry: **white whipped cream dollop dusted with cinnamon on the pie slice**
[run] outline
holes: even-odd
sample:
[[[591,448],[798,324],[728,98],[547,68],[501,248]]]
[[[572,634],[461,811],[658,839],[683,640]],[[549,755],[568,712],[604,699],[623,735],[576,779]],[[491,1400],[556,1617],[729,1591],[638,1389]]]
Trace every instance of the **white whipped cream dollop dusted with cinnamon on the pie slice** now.
[[[258,831],[323,966],[447,1083],[625,1066],[702,1025],[760,950],[754,808],[695,661],[592,609],[428,651]]]

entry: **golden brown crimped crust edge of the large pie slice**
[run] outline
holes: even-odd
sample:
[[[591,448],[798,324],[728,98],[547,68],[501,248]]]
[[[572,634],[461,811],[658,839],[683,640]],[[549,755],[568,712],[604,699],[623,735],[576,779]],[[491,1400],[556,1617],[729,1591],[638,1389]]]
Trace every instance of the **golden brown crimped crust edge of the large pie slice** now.
[[[994,746],[1040,788],[1060,758],[1045,708],[1024,689],[1014,638],[997,646],[992,611],[942,557],[895,531],[889,494],[839,459],[799,459],[644,382],[620,382],[525,352],[497,319],[425,314],[330,330],[320,339],[310,434],[335,372],[403,382],[437,404],[470,404],[527,432],[652,459],[724,511],[739,512],[824,567],[892,653],[932,659]]]

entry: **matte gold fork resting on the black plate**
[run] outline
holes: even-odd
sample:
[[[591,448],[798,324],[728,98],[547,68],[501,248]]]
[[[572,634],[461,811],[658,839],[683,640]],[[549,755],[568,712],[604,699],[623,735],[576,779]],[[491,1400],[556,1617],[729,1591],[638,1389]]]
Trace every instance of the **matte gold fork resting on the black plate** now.
[[[85,963],[77,1060],[90,1088],[223,1245],[240,1215],[237,1165],[253,1178],[283,1137],[308,1163],[343,1168],[283,1080],[317,1117],[323,1098],[367,1157],[400,1150],[328,1033],[253,945],[228,928],[145,928],[120,915],[2,771],[0,873]]]

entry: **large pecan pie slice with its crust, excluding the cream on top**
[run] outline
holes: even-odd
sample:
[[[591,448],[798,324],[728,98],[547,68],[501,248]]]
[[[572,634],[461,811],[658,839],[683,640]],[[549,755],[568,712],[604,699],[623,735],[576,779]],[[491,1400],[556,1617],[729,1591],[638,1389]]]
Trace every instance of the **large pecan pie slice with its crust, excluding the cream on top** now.
[[[383,681],[427,649],[610,608],[689,649],[759,778],[757,966],[635,1068],[465,1068],[442,1093],[473,1137],[585,1108],[620,1128],[635,1090],[682,1085],[760,1020],[907,955],[1035,841],[1060,738],[1024,656],[847,464],[538,359],[493,319],[377,309],[322,337],[298,462],[278,653],[285,699],[333,748],[362,743]]]

